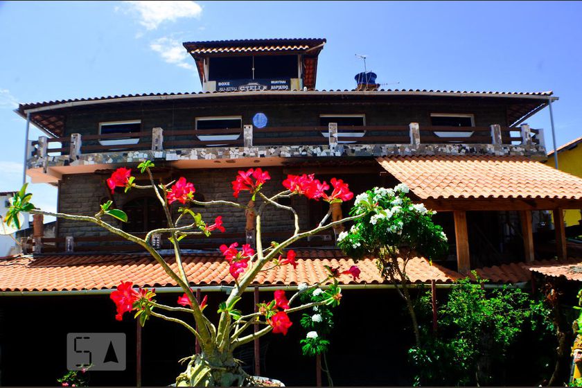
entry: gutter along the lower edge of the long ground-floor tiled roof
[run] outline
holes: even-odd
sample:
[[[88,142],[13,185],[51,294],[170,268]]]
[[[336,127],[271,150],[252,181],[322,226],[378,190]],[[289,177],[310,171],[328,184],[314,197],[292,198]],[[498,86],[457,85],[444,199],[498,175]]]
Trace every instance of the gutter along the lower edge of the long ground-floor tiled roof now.
[[[436,283],[436,288],[452,288],[454,283]],[[525,288],[527,282],[513,283],[513,284],[485,284],[485,288]],[[412,288],[430,287],[430,283],[414,283]],[[340,285],[344,290],[394,290],[394,284],[346,284]],[[194,290],[200,289],[201,292],[224,292],[230,294],[234,287],[230,285],[203,285],[200,287],[193,286]],[[328,288],[323,285],[321,288]],[[297,285],[267,285],[258,286],[260,291],[297,291]],[[105,288],[103,290],[64,290],[64,291],[1,291],[0,297],[67,297],[67,296],[81,296],[81,295],[108,295],[115,291],[115,288]],[[248,287],[245,292],[253,292],[254,287]],[[156,288],[156,294],[173,294],[184,292],[180,287],[161,287]]]

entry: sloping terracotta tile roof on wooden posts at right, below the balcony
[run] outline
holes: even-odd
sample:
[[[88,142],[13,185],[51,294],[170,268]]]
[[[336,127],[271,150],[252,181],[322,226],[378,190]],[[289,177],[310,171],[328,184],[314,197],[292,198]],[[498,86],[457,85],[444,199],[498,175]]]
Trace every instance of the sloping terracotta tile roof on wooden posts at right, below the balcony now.
[[[385,157],[378,162],[423,200],[582,199],[582,179],[527,157]]]

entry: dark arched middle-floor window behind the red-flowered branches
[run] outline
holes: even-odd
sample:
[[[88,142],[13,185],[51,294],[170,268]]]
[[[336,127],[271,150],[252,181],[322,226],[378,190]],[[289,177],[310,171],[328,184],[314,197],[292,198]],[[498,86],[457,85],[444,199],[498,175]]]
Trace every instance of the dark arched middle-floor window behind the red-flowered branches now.
[[[142,232],[166,227],[166,215],[157,197],[139,197],[123,206],[127,213],[124,231]]]

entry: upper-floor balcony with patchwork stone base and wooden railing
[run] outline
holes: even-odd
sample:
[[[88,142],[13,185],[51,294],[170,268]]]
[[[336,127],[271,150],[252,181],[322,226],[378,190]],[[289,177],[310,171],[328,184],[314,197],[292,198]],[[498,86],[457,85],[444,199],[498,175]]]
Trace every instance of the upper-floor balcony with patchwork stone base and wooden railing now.
[[[155,127],[130,134],[41,136],[28,142],[26,152],[27,173],[37,183],[58,182],[62,174],[91,173],[143,159],[169,161],[177,168],[251,166],[257,159],[278,165],[287,158],[387,155],[526,155],[544,159],[545,145],[543,130],[525,124],[342,127],[330,123],[265,129],[244,125],[220,133]]]

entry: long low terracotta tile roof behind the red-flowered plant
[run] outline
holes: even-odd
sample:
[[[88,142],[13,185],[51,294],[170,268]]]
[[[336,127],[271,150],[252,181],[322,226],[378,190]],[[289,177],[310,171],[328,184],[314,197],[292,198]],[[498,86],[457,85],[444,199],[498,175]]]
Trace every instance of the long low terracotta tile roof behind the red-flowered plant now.
[[[192,285],[233,285],[227,262],[219,254],[185,254],[184,267]],[[168,259],[175,269],[175,262]],[[339,250],[297,250],[297,270],[291,266],[262,272],[255,285],[298,285],[316,283],[326,276],[324,265],[347,270],[354,261]],[[357,263],[362,273],[353,281],[342,275],[342,284],[384,283],[373,259]],[[430,265],[425,258],[413,258],[407,265],[412,283],[431,279],[450,283],[461,276],[439,265]],[[175,286],[172,279],[150,256],[47,255],[23,256],[0,261],[0,291],[100,290],[114,288],[120,281],[148,287]]]

